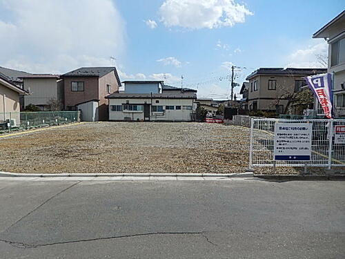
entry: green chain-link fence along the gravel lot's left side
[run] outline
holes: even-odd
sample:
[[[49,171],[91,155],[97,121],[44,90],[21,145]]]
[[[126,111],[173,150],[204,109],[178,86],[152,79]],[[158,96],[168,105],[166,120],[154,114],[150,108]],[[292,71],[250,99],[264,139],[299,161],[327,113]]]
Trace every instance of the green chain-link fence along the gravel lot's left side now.
[[[79,122],[78,111],[0,113],[0,133]]]

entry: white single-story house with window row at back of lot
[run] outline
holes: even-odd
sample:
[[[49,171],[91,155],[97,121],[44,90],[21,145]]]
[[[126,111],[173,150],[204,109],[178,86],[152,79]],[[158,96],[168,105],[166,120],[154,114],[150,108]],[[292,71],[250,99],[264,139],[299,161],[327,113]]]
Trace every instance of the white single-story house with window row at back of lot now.
[[[109,100],[110,121],[194,120],[195,93],[113,93]]]

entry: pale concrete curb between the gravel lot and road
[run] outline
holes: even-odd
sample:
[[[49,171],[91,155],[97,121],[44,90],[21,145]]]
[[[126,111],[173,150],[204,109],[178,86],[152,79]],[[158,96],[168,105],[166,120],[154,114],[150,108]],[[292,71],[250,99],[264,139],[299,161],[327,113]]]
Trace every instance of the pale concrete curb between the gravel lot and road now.
[[[8,173],[0,171],[1,177],[35,177],[35,178],[54,178],[54,177],[218,177],[218,178],[253,178],[253,173]]]

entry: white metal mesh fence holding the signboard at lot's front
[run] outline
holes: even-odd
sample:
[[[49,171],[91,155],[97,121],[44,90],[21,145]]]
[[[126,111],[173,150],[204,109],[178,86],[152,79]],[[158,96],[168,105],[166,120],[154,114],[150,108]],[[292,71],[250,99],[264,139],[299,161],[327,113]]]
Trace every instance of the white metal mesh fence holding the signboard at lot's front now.
[[[275,123],[313,124],[311,160],[275,161],[273,156]],[[334,128],[345,119],[252,119],[250,125],[249,167],[253,166],[344,166],[345,144],[335,144]]]

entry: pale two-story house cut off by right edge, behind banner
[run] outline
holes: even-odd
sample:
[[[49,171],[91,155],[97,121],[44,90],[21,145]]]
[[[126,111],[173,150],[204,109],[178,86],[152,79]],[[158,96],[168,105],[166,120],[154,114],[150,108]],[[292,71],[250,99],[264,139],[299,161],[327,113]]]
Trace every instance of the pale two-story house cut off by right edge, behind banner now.
[[[333,73],[335,116],[345,116],[345,11],[314,33],[328,42],[328,73]],[[318,105],[319,106],[319,105]],[[321,108],[317,109],[321,112]]]

